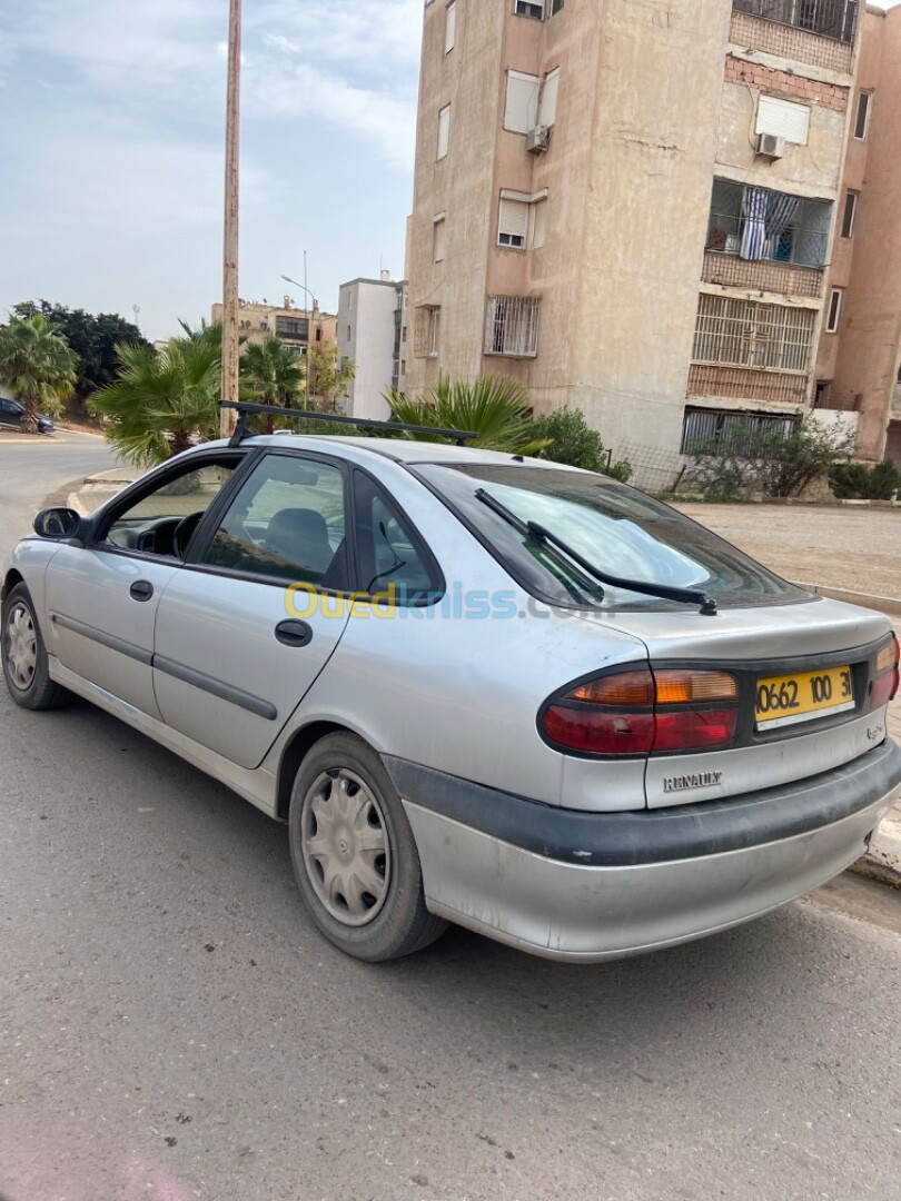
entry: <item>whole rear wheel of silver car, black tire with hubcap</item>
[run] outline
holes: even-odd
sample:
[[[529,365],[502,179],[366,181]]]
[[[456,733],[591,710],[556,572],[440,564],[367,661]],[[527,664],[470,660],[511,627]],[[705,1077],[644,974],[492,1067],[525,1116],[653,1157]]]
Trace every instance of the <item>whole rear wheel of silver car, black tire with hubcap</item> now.
[[[378,755],[352,734],[329,734],[294,779],[291,860],[320,931],[370,963],[412,955],[447,922],[425,908],[413,832]]]

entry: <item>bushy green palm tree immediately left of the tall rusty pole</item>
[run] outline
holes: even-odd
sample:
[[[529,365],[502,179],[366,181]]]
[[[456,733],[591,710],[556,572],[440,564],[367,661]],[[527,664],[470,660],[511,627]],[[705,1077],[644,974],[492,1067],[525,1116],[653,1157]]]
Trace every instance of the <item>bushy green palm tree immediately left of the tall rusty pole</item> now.
[[[161,351],[118,346],[117,354],[119,378],[88,404],[107,418],[124,459],[148,467],[219,436],[221,355],[210,339],[173,337]]]

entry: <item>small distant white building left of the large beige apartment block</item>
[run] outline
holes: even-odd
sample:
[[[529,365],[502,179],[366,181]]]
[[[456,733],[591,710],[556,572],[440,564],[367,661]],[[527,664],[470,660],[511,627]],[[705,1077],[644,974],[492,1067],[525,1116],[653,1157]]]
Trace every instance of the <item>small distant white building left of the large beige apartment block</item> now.
[[[354,366],[346,412],[348,417],[388,417],[383,393],[406,386],[405,281],[351,280],[342,283],[338,301],[338,349]]]

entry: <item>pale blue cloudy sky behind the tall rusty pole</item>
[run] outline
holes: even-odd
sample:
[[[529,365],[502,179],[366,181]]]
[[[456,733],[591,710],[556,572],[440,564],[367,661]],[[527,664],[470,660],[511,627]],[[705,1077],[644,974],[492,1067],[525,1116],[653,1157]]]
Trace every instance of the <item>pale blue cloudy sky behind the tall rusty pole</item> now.
[[[896,0],[893,0],[896,2]],[[423,0],[244,0],[240,293],[404,271]],[[0,0],[0,319],[221,292],[228,0]],[[294,291],[303,304],[303,292]]]

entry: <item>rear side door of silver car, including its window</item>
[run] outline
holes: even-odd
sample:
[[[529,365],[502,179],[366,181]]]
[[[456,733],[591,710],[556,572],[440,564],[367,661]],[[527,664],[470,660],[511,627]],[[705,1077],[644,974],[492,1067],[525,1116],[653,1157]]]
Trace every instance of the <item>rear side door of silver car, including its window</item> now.
[[[347,625],[347,490],[335,460],[265,453],[160,600],[163,719],[241,767],[263,760]]]

